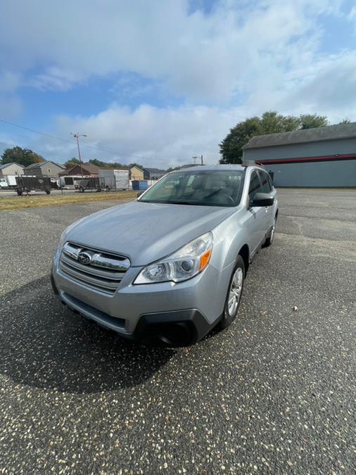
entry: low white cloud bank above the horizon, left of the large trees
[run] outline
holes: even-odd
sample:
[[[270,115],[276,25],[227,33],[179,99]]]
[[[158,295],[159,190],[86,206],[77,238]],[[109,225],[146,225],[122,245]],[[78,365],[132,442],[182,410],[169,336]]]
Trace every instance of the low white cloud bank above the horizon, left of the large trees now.
[[[90,118],[61,116],[56,134],[65,137],[68,130],[85,133],[88,137],[82,139],[83,145],[114,152],[83,147],[85,160],[100,158],[170,167],[191,163],[192,156],[203,155],[206,163],[217,163],[220,158],[218,143],[231,124],[241,118],[243,115],[237,109],[227,111],[205,106],[173,109],[142,105],[129,110],[113,105]],[[56,141],[49,142],[56,144]]]

